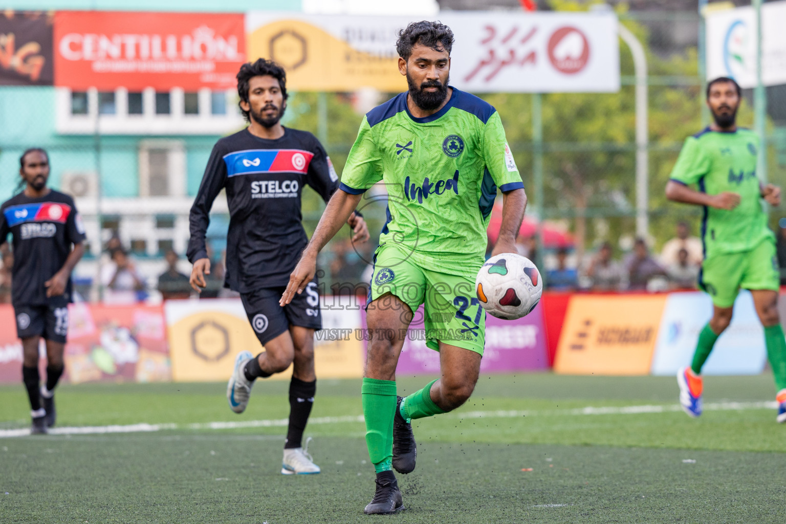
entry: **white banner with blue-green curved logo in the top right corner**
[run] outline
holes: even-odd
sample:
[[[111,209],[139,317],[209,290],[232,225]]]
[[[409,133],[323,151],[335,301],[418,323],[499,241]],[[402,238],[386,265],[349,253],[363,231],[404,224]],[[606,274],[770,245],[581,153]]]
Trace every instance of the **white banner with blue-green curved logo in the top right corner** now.
[[[762,5],[762,82],[786,83],[786,2]],[[751,6],[707,13],[707,80],[729,76],[756,85],[756,13]]]

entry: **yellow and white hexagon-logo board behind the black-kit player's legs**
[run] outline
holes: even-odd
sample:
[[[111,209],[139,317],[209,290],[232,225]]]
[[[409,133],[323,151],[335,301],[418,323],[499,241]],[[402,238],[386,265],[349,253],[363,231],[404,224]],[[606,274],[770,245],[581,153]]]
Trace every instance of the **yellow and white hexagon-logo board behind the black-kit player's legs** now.
[[[362,376],[362,345],[356,337],[360,327],[358,309],[347,309],[348,300],[323,297],[322,325],[314,336],[314,365],[325,379]],[[164,303],[172,355],[172,379],[176,382],[228,380],[235,355],[243,350],[258,354],[263,346],[256,338],[241,299],[169,300]],[[252,319],[259,329],[267,319]],[[270,379],[289,379],[292,366]]]

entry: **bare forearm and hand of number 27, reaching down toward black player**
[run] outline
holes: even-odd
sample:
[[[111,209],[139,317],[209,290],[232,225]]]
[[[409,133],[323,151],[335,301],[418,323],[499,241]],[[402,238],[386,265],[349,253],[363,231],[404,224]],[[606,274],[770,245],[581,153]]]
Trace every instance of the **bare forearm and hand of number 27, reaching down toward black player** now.
[[[344,222],[350,218],[354,212],[354,208],[360,201],[361,194],[352,195],[348,192],[339,189],[328,202],[328,207],[325,207],[325,212],[319,219],[317,229],[314,230],[314,235],[311,236],[306,249],[303,250],[303,255],[297,263],[295,270],[289,276],[289,284],[281,295],[279,304],[286,306],[292,302],[292,297],[295,293],[301,293],[306,284],[314,278],[314,273],[317,272],[317,255],[322,247],[325,247],[333,236],[339,232]]]

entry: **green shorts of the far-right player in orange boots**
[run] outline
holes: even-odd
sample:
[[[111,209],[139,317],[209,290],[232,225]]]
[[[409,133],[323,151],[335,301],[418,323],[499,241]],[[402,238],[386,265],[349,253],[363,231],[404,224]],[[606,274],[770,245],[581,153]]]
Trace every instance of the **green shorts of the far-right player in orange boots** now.
[[[707,258],[701,265],[699,287],[711,295],[715,306],[723,308],[734,305],[740,288],[778,291],[780,270],[775,243],[766,239],[750,251]]]

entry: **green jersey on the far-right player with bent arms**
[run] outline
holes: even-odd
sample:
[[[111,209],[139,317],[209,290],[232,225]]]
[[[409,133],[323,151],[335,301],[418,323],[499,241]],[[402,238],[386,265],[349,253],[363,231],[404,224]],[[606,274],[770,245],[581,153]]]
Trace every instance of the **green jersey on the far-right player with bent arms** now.
[[[701,233],[707,257],[748,251],[775,238],[756,178],[758,147],[758,136],[747,129],[722,133],[707,127],[685,140],[671,180],[697,184],[709,195],[727,191],[740,195],[740,205],[732,211],[704,208]]]

